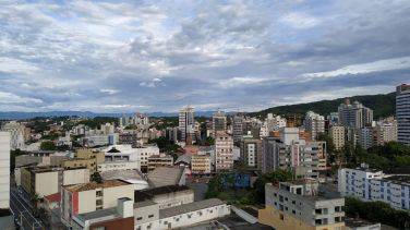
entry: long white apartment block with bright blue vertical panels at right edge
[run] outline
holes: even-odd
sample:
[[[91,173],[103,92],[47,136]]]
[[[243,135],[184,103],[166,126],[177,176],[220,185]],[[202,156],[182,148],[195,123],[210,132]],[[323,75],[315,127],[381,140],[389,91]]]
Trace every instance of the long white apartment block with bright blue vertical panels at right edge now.
[[[343,168],[338,170],[338,191],[362,201],[388,203],[396,209],[410,208],[410,170],[396,168]]]

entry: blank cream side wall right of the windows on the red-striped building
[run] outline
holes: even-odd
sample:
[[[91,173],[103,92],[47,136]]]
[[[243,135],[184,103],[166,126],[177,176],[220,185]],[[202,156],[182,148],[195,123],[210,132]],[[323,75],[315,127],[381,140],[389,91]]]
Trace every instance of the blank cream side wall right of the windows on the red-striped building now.
[[[134,201],[134,184],[102,189],[102,208],[116,207],[117,199],[121,197]]]

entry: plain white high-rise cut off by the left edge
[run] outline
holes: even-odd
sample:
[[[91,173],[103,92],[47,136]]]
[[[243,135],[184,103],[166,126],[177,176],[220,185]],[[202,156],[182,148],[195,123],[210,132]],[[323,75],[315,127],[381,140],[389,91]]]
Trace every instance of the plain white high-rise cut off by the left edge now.
[[[10,207],[10,132],[0,132],[0,208]]]

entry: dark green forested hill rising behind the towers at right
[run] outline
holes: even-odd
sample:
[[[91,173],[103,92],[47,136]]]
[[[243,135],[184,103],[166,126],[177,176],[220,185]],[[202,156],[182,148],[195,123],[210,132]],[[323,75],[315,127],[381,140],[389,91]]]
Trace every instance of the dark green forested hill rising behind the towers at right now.
[[[365,95],[347,97],[350,102],[358,100],[373,110],[373,119],[387,118],[396,114],[396,93],[379,94],[379,95]],[[346,98],[339,98],[335,100],[321,100],[309,104],[297,104],[289,106],[278,106],[269,109],[262,110],[260,112],[251,112],[250,116],[266,116],[267,113],[274,113],[285,116],[288,113],[301,113],[304,116],[306,111],[314,111],[321,116],[328,116],[330,112],[337,112],[337,107],[345,102]]]

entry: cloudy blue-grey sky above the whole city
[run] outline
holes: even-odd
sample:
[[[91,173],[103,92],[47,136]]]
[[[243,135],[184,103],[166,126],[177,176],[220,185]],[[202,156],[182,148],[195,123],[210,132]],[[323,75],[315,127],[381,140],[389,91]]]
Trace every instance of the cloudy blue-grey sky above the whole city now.
[[[409,32],[408,0],[0,0],[0,111],[387,94],[410,83]]]

